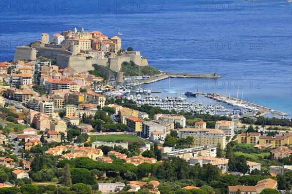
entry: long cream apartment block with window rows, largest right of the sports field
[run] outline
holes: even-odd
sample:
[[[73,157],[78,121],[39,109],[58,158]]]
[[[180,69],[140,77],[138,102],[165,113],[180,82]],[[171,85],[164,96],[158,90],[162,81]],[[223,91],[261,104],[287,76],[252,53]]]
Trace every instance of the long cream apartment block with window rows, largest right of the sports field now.
[[[222,149],[226,146],[225,133],[220,129],[185,128],[179,130],[180,138],[186,138],[187,136],[194,137],[194,146],[217,146],[218,143],[220,143]]]

